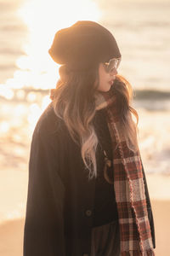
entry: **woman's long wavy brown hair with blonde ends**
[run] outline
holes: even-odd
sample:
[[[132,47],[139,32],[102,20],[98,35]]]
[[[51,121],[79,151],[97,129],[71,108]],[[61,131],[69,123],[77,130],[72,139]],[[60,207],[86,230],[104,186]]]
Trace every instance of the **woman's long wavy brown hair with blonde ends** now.
[[[60,79],[56,89],[51,91],[55,114],[65,121],[65,125],[75,143],[81,147],[82,160],[89,171],[89,178],[97,177],[96,148],[98,137],[93,119],[96,113],[95,92],[99,86],[99,67],[84,71],[71,71],[59,67]],[[97,81],[97,83],[96,83]],[[118,110],[121,111],[122,131],[127,145],[133,151],[139,149],[137,140],[138,113],[130,106],[133,97],[131,84],[116,75],[114,90],[118,96]],[[131,113],[137,119],[134,123]]]

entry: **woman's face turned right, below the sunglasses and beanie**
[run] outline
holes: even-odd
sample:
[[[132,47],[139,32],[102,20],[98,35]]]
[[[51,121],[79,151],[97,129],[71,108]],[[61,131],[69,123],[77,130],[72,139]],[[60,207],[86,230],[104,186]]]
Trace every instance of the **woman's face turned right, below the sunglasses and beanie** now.
[[[111,89],[111,85],[116,79],[117,70],[116,67],[111,69],[110,73],[105,71],[103,63],[99,63],[99,86],[97,90],[99,91],[108,91]]]

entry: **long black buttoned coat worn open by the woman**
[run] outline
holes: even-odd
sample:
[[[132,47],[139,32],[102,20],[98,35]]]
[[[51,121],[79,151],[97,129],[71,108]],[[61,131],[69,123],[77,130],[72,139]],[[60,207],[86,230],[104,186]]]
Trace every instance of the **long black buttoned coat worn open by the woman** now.
[[[107,134],[110,136],[109,130]],[[107,151],[107,143],[100,143]],[[101,147],[96,157],[98,170],[103,170],[105,156]],[[145,176],[144,186],[155,247]],[[90,255],[94,188],[95,179],[88,180],[80,147],[50,104],[38,120],[31,142],[24,256]]]

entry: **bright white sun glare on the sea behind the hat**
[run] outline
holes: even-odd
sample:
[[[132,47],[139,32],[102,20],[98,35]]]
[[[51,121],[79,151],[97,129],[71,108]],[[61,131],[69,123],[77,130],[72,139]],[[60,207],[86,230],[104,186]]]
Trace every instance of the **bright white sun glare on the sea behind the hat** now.
[[[59,79],[59,65],[48,55],[54,33],[77,20],[99,20],[100,11],[93,0],[23,0],[18,10],[28,28],[23,50],[26,55],[16,61],[14,77],[1,84],[0,96],[13,99],[14,89],[48,90]],[[20,97],[20,96],[19,96]],[[22,97],[22,96],[21,96]]]

